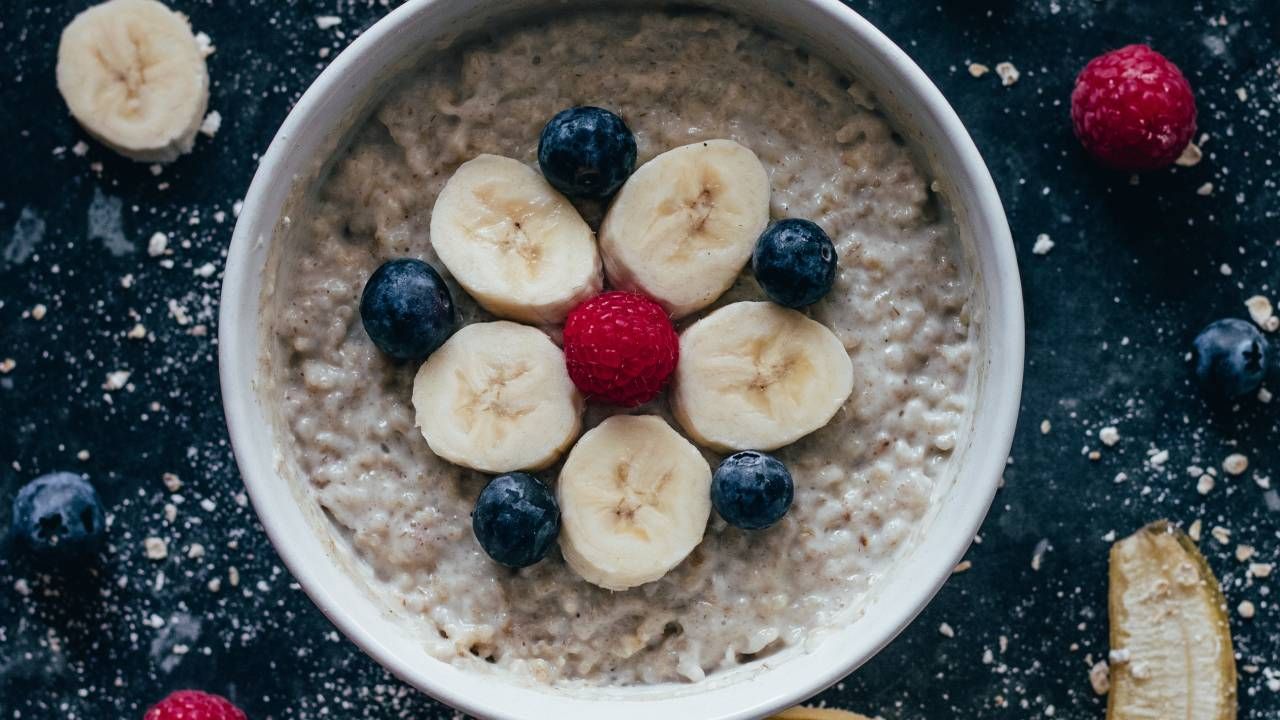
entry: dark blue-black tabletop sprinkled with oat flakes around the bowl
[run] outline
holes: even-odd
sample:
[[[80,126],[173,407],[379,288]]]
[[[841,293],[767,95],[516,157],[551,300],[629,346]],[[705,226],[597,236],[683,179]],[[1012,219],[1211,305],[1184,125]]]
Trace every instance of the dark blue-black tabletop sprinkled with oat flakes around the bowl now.
[[[1210,413],[1184,354],[1208,320],[1245,316],[1247,297],[1280,300],[1280,4],[851,4],[934,78],[991,165],[1021,263],[1028,364],[1006,486],[972,569],[820,700],[887,719],[1101,717],[1087,671],[1106,653],[1106,538],[1167,516],[1201,519],[1229,603],[1257,606],[1252,620],[1233,616],[1239,662],[1254,667],[1242,673],[1240,716],[1276,717],[1280,675],[1271,689],[1265,673],[1280,671],[1280,609],[1235,551],[1280,555],[1280,496],[1266,487],[1280,401]],[[60,28],[84,5],[0,5],[0,360],[15,361],[0,375],[0,502],[41,473],[82,471],[109,505],[110,548],[93,573],[54,575],[0,551],[0,717],[141,717],[178,687],[224,693],[255,720],[452,716],[361,655],[292,583],[238,502],[218,400],[219,278],[255,154],[326,63],[321,49],[335,53],[387,8],[174,0],[218,47],[211,108],[224,122],[154,176],[91,141],[73,150],[87,138],[52,68]],[[343,20],[321,29],[316,15]],[[1133,41],[1187,72],[1207,135],[1199,165],[1137,184],[1091,165],[1066,120],[1075,72]],[[1021,72],[1009,87],[968,72],[1006,60]],[[172,255],[147,255],[155,232]],[[1047,255],[1032,252],[1039,233],[1055,243]],[[37,304],[42,320],[29,315]],[[146,338],[127,338],[137,323]],[[115,370],[128,387],[108,392]],[[1115,447],[1097,439],[1105,425],[1119,428]],[[1156,451],[1162,465],[1148,460]],[[1188,466],[1230,452],[1249,470],[1198,493]],[[1229,543],[1210,538],[1215,525]],[[148,537],[168,542],[166,559],[147,559]]]

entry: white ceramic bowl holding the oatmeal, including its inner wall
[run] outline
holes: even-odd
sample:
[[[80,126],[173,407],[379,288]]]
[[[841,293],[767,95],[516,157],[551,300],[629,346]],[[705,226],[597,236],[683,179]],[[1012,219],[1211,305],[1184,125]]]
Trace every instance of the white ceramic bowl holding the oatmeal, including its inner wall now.
[[[758,662],[749,682],[549,691],[495,682],[429,656],[353,577],[314,509],[278,470],[273,410],[259,396],[262,287],[269,249],[316,169],[371,109],[383,81],[424,50],[460,35],[576,5],[653,0],[410,0],[360,36],[315,81],[262,158],[236,225],[223,282],[219,361],[236,459],[259,518],[289,570],[348,638],[404,682],[481,717],[737,720],[759,717],[831,685],[887,644],[928,603],[969,547],[996,492],[1012,441],[1023,375],[1023,305],[1009,225],[973,141],[924,73],[887,37],[837,0],[696,0],[769,28],[876,91],[900,132],[920,149],[950,197],[977,265],[975,407],[956,450],[945,501],[919,548],[884,578],[861,618],[785,661]],[[732,678],[731,678],[732,680]]]

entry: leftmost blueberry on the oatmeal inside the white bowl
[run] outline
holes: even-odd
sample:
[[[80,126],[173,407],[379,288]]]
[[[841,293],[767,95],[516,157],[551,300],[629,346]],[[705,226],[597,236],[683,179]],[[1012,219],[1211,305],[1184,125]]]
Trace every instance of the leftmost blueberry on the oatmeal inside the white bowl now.
[[[457,315],[435,268],[402,258],[383,263],[369,277],[360,319],[379,350],[397,360],[416,360],[449,338]]]

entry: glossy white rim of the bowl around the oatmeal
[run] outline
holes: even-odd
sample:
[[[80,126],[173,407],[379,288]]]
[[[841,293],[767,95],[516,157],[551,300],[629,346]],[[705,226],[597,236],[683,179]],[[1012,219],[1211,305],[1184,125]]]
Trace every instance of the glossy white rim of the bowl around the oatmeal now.
[[[470,680],[463,682],[457,671],[442,670],[429,664],[415,666],[404,657],[401,657],[393,647],[383,642],[375,633],[353,618],[352,612],[342,603],[342,598],[332,588],[323,583],[317,575],[316,564],[335,565],[328,557],[316,559],[303,553],[293,542],[289,528],[282,516],[269,502],[268,486],[273,482],[288,482],[279,477],[278,469],[270,464],[264,464],[251,456],[248,450],[259,442],[255,413],[256,374],[257,364],[246,364],[239,359],[242,340],[246,334],[244,325],[248,323],[253,328],[259,323],[261,311],[261,297],[255,299],[248,305],[255,313],[250,313],[241,301],[246,293],[246,277],[251,272],[261,272],[261,266],[255,266],[250,259],[250,252],[255,243],[262,243],[264,238],[273,238],[275,224],[265,227],[264,217],[270,218],[279,214],[280,208],[274,210],[266,200],[266,190],[282,181],[289,182],[292,178],[282,178],[282,167],[292,150],[293,137],[307,131],[310,117],[316,111],[323,100],[335,92],[347,81],[347,76],[358,72],[364,64],[364,58],[376,44],[401,31],[412,23],[421,13],[440,4],[453,0],[408,0],[396,8],[376,23],[370,26],[352,44],[339,53],[334,60],[319,74],[297,104],[289,110],[279,131],[274,136],[266,152],[262,155],[259,168],[253,176],[248,192],[244,196],[239,218],[236,224],[230,247],[227,255],[227,268],[224,273],[220,310],[219,310],[219,379],[221,384],[221,397],[227,416],[228,430],[233,452],[242,478],[253,501],[255,511],[266,534],[280,556],[284,565],[297,579],[298,584],[307,593],[311,601],[324,612],[324,615],[343,632],[347,638],[356,643],[364,652],[378,661],[383,667],[398,676],[407,684],[435,697],[456,708],[480,717],[515,719],[539,707],[538,716],[550,716],[552,712],[570,712],[570,716],[588,717],[595,712],[608,708],[609,716],[616,720],[632,720],[658,716],[662,712],[680,710],[677,716],[689,712],[686,706],[698,706],[699,717],[716,720],[744,720],[756,717],[763,714],[774,712],[795,702],[820,692],[835,684],[841,678],[855,670],[859,665],[878,653],[899,633],[901,633],[915,616],[933,600],[941,587],[950,578],[955,564],[963,557],[977,536],[982,523],[989,510],[991,502],[998,486],[998,478],[1005,465],[1009,448],[1012,445],[1012,436],[1018,419],[1018,410],[1023,382],[1023,356],[1024,356],[1024,318],[1021,283],[1019,279],[1016,259],[1012,249],[1012,240],[1009,231],[1007,219],[996,191],[991,173],[982,160],[977,146],[968,131],[964,128],[955,110],[942,96],[942,92],[924,74],[924,72],[911,60],[905,51],[876,28],[869,20],[855,10],[841,4],[838,0],[799,0],[810,5],[815,12],[835,23],[838,23],[841,32],[852,36],[856,42],[868,47],[868,51],[877,55],[902,81],[901,92],[914,95],[920,105],[932,115],[932,120],[941,128],[940,141],[945,141],[955,152],[956,161],[966,176],[966,182],[973,188],[973,219],[970,224],[983,225],[989,234],[986,243],[993,256],[989,259],[982,281],[987,286],[991,299],[989,314],[998,314],[998,322],[988,322],[989,325],[1002,328],[998,336],[998,352],[989,352],[986,359],[986,378],[992,382],[992,387],[986,389],[989,395],[988,415],[974,420],[974,429],[982,427],[987,430],[983,436],[986,450],[973,451],[963,475],[973,475],[972,488],[977,495],[966,500],[970,512],[965,515],[966,521],[948,529],[948,537],[955,542],[955,547],[946,552],[942,547],[940,552],[928,553],[932,559],[915,561],[918,568],[914,573],[913,587],[919,588],[914,603],[902,603],[888,610],[884,623],[868,629],[870,639],[863,643],[860,650],[845,652],[842,661],[833,666],[813,671],[809,669],[803,676],[792,678],[796,684],[786,688],[771,689],[765,693],[741,692],[744,682],[708,688],[704,692],[677,694],[662,700],[639,698],[637,702],[617,703],[611,700],[581,698],[559,694],[544,688],[525,688],[517,684],[494,683],[492,678],[470,671],[462,671]],[[975,269],[977,274],[977,269]],[[991,318],[996,320],[996,318]],[[256,332],[256,331],[253,331]],[[993,338],[995,340],[995,338]],[[983,361],[975,357],[974,363]],[[957,474],[959,482],[961,474]],[[933,519],[936,523],[937,519]],[[961,539],[968,538],[965,542]],[[925,555],[925,553],[916,553]],[[372,602],[372,598],[370,598]],[[823,644],[832,644],[826,642]],[[780,670],[794,665],[800,657],[788,662],[781,662],[771,667],[767,674],[780,675]],[[453,667],[443,661],[439,665]],[[454,667],[456,670],[456,667]],[[763,676],[760,678],[763,679]],[[750,685],[763,685],[759,682],[748,682]],[[504,685],[504,687],[495,687]],[[726,694],[726,688],[733,694]],[[481,689],[483,692],[476,692]],[[495,697],[507,697],[498,701]],[[698,705],[691,698],[705,698],[719,696],[732,698],[744,696],[741,702],[730,710],[719,710],[707,703]],[[750,696],[750,697],[746,697]],[[529,705],[532,703],[532,705]],[[635,706],[628,710],[628,705]],[[639,711],[636,711],[639,708]],[[591,712],[595,711],[595,712]]]

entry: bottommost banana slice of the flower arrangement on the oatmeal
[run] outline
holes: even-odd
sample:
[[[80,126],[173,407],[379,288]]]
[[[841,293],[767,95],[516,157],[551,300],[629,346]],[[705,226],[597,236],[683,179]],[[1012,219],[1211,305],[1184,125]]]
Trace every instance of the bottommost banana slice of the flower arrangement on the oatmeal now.
[[[614,415],[577,441],[561,469],[561,551],[611,591],[680,565],[707,530],[712,469],[655,415]]]

